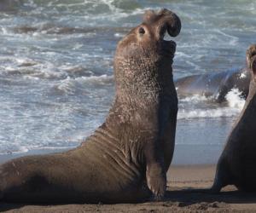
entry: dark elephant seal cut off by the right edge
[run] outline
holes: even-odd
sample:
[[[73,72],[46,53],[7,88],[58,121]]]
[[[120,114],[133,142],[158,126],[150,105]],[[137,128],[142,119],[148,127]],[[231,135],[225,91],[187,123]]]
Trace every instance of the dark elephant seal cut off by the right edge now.
[[[256,44],[247,50],[247,68],[251,72],[249,95],[218,160],[214,193],[230,184],[256,191]]]

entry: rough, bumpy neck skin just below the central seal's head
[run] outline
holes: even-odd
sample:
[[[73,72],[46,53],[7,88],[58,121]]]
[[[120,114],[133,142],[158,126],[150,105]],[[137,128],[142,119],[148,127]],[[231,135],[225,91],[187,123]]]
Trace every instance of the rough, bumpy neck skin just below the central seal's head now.
[[[174,87],[172,79],[172,58],[166,59],[160,53],[160,44],[152,44],[152,47],[132,47],[117,49],[114,63],[114,75],[116,95],[152,99],[155,95],[173,95]]]

